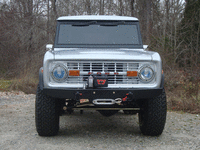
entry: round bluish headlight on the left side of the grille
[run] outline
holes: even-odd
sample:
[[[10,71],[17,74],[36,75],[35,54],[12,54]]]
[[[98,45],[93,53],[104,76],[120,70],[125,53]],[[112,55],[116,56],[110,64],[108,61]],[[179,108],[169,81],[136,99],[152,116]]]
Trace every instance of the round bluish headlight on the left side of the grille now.
[[[67,69],[62,64],[57,64],[52,70],[52,78],[57,82],[63,82],[67,78]]]

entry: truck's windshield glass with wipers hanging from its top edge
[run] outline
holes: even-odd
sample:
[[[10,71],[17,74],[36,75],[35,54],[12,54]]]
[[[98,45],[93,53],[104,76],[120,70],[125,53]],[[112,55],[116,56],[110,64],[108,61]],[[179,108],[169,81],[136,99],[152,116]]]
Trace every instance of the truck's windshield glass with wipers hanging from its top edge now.
[[[60,23],[58,47],[142,45],[137,24],[116,22]],[[123,47],[123,46],[122,46]]]

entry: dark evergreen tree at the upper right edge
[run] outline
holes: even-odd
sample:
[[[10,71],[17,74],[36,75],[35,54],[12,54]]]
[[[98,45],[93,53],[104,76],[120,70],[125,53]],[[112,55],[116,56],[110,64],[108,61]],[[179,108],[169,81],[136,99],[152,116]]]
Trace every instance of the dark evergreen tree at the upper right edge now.
[[[184,18],[181,21],[179,37],[182,40],[180,56],[187,56],[179,61],[187,66],[197,66],[200,63],[200,0],[187,0]],[[183,51],[185,49],[185,51]]]

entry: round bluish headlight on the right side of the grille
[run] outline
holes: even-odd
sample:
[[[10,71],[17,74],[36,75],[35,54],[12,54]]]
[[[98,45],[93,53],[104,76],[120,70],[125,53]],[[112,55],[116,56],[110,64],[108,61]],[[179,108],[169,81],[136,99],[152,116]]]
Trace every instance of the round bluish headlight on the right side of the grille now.
[[[139,78],[143,82],[150,82],[154,77],[154,71],[150,66],[144,66],[139,71]]]

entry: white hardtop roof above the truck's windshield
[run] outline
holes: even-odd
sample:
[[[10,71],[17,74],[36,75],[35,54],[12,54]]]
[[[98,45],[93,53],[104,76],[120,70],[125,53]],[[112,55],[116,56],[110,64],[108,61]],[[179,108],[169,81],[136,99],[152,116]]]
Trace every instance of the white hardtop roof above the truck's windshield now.
[[[127,16],[106,16],[106,15],[83,15],[83,16],[62,16],[57,20],[123,20],[138,21],[135,17]]]

